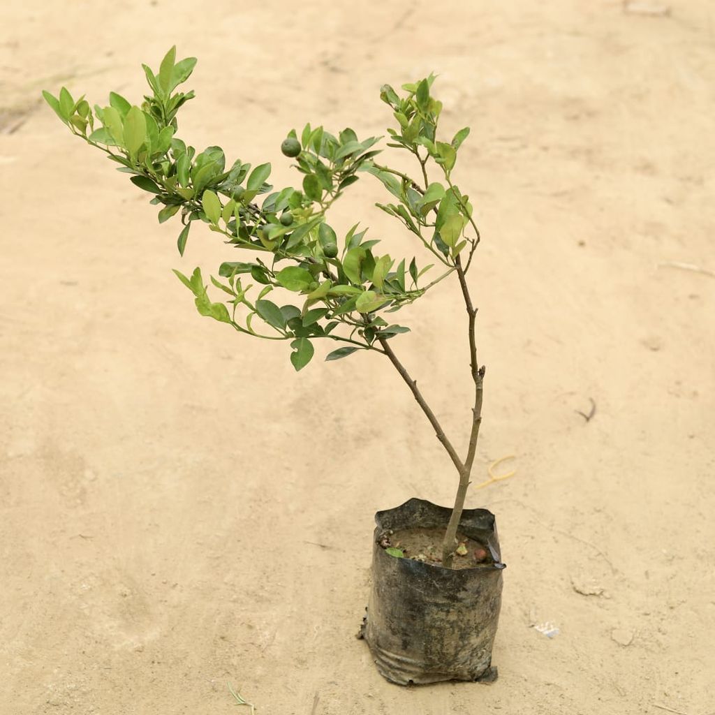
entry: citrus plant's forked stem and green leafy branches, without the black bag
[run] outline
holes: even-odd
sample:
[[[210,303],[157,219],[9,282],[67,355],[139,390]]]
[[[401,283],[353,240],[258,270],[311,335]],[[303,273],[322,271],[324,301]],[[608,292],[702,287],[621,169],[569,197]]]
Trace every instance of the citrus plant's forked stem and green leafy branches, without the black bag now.
[[[194,295],[201,315],[244,335],[287,341],[296,370],[310,363],[318,340],[340,344],[326,360],[346,358],[357,350],[390,360],[458,470],[458,491],[443,543],[443,565],[450,566],[475,457],[484,377],[476,354],[476,310],[465,278],[480,237],[469,198],[452,178],[468,127],[448,142],[438,139],[442,104],[431,94],[433,75],[403,85],[400,94],[386,84],[380,99],[395,120],[388,129],[388,147],[413,155],[419,166],[416,178],[378,162],[380,151],[373,148],[378,138],[360,140],[350,128],[335,135],[306,124],[300,136],[291,131],[281,144],[282,154],[294,159],[302,174],[300,187],[276,189],[270,184],[270,163],[252,166],[237,159],[228,166],[221,147],[197,152],[179,139],[177,114],[194,92],[177,88],[195,64],[193,57],[177,61],[172,47],[158,73],[143,65],[151,91],[141,104],[110,92],[107,106],[90,107],[84,96],[74,99],[64,87],[59,97],[43,95],[72,134],[104,152],[119,164],[120,172],[130,175],[132,184],[152,194],[150,203],[159,207],[160,223],[178,217],[180,255],[192,225],[199,223],[247,256],[223,262],[217,275],[210,276],[210,285],[199,268],[190,276],[174,271]],[[430,180],[430,173],[437,180]],[[378,207],[413,235],[431,254],[432,264],[418,267],[416,257],[398,261],[381,252],[380,242],[366,237],[358,223],[338,238],[327,219],[330,207],[365,175],[383,184],[389,198]],[[435,266],[439,275],[425,284],[423,276]],[[392,347],[393,338],[409,329],[392,322],[391,315],[451,275],[459,281],[467,312],[475,388],[464,458]],[[214,290],[209,295],[211,286],[223,294],[222,300],[215,300],[219,294]]]

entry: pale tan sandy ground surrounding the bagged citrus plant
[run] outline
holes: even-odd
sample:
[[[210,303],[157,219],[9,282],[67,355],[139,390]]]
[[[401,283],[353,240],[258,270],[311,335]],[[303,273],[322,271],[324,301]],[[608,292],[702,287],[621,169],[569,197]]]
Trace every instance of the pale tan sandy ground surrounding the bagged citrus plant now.
[[[659,267],[715,270],[711,2],[241,6],[0,9],[0,713],[248,712],[229,681],[259,715],[715,711],[715,277]],[[517,470],[468,500],[508,563],[492,686],[390,685],[354,638],[373,513],[453,493],[390,364],[296,375],[199,317],[169,269],[235,253],[194,230],[180,259],[177,223],[37,103],[136,100],[174,43],[199,57],[182,136],[278,182],[293,126],[383,134],[383,82],[434,70],[445,132],[473,129],[475,480]],[[412,255],[354,189],[335,224]],[[394,347],[463,442],[459,300],[400,314]]]

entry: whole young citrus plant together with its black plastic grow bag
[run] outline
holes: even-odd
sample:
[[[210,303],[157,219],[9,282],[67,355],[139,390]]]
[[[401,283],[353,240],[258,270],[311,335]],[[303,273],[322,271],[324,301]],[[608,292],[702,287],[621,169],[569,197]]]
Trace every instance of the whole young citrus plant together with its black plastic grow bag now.
[[[288,341],[295,370],[310,363],[319,340],[339,344],[325,360],[357,350],[390,360],[452,460],[458,488],[452,508],[411,499],[376,515],[373,588],[360,635],[380,673],[396,683],[494,679],[491,649],[504,564],[493,515],[464,509],[484,381],[466,278],[480,236],[469,198],[452,178],[469,129],[448,142],[438,137],[442,104],[431,94],[432,75],[403,85],[401,94],[386,84],[380,99],[395,119],[388,147],[413,155],[416,177],[378,160],[375,137],[360,140],[352,129],[335,136],[307,124],[300,137],[289,132],[281,145],[302,174],[300,188],[275,190],[268,183],[269,163],[251,167],[239,159],[227,166],[220,147],[197,152],[177,136],[177,113],[194,97],[177,88],[195,64],[194,58],[177,61],[172,48],[157,73],[144,65],[151,92],[140,106],[114,92],[106,107],[94,109],[64,87],[59,97],[43,94],[72,134],[107,154],[136,187],[152,194],[159,222],[180,218],[180,255],[195,222],[242,250],[244,260],[223,262],[210,277],[223,300],[209,297],[199,268],[190,277],[174,271],[201,315],[242,335]],[[367,238],[357,223],[338,240],[327,220],[330,207],[365,175],[382,182],[390,197],[378,207],[432,255],[432,265],[420,268],[415,257],[397,261],[378,252],[379,241]],[[435,266],[438,275],[427,282],[423,276]],[[393,350],[395,337],[408,327],[390,320],[448,278],[458,280],[464,301],[474,385],[464,457]]]

